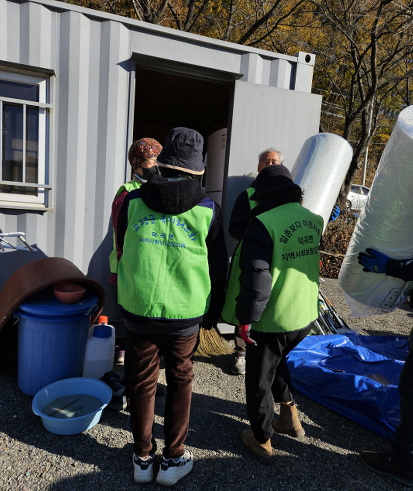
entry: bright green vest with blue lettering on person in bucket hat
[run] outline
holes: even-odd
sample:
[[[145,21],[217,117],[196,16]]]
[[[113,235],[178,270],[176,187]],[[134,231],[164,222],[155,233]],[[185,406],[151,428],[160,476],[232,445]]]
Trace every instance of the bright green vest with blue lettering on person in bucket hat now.
[[[168,215],[131,199],[118,266],[118,303],[157,319],[193,319],[207,312],[211,295],[206,238],[214,217],[204,198],[191,210]]]

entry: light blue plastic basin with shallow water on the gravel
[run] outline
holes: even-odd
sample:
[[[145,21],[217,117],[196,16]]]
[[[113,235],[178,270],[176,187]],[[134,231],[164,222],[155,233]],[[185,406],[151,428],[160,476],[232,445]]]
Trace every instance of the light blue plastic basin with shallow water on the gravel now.
[[[93,412],[83,416],[67,419],[55,418],[43,413],[43,409],[58,397],[72,394],[87,394],[97,397],[102,405]],[[99,422],[102,411],[109,404],[112,389],[105,382],[87,377],[74,377],[50,383],[43,387],[33,397],[31,409],[36,416],[40,416],[46,430],[57,435],[75,435],[93,428]]]

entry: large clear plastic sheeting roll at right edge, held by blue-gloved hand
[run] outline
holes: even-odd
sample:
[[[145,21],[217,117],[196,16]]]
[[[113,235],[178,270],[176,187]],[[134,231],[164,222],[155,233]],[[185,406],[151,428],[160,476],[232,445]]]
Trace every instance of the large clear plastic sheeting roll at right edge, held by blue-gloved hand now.
[[[366,273],[358,253],[367,247],[393,259],[413,257],[413,106],[403,109],[385,146],[358,217],[338,281],[353,317],[385,314],[405,300],[409,283]]]

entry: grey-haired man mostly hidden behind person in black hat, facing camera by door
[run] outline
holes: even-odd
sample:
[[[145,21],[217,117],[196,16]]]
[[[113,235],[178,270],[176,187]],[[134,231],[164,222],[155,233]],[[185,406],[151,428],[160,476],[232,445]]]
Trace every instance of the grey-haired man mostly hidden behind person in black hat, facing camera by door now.
[[[282,165],[284,157],[279,150],[274,147],[266,148],[258,155],[258,172],[269,165]],[[256,176],[256,174],[255,174]],[[254,176],[254,177],[255,177]],[[234,207],[232,208],[231,218],[229,219],[229,234],[238,242],[244,237],[244,232],[251,218],[251,210],[255,207],[256,202],[250,200],[250,196],[255,191],[255,181],[242,191],[237,197]],[[238,336],[238,328],[235,328],[235,356],[231,372],[237,375],[245,374],[245,342]]]

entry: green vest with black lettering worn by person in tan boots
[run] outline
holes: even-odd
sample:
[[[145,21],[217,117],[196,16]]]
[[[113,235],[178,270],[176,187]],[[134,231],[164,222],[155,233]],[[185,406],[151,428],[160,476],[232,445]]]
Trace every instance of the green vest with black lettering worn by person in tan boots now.
[[[318,317],[319,244],[323,218],[299,203],[287,203],[258,218],[273,241],[270,273],[271,295],[258,322],[252,329],[261,332],[285,332],[301,329]],[[242,241],[231,264],[225,304],[221,317],[237,326],[236,298],[240,293],[239,255]]]

